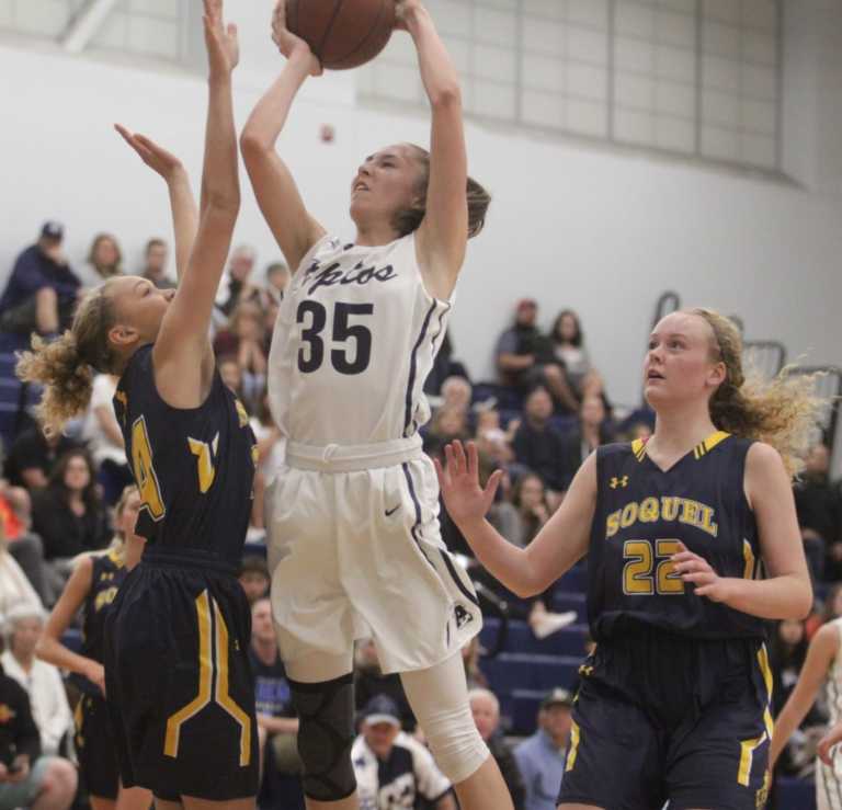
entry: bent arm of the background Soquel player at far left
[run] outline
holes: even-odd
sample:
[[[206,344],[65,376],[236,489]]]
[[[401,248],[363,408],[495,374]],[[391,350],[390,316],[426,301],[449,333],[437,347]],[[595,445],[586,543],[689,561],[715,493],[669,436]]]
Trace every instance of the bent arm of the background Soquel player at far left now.
[[[91,590],[92,578],[93,560],[90,557],[83,557],[70,574],[61,596],[49,614],[35,652],[42,661],[84,675],[104,692],[105,673],[102,664],[69,650],[61,643],[61,636],[84,604]]]

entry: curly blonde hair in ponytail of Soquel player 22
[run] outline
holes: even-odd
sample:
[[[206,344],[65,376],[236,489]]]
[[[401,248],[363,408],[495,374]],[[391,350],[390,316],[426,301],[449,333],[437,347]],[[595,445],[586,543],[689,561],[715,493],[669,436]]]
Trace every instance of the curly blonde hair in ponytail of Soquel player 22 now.
[[[747,377],[742,338],[735,323],[712,309],[684,310],[703,318],[713,331],[710,356],[725,364],[726,377],[710,397],[710,420],[720,430],[772,445],[790,476],[804,469],[827,402],[816,396],[817,375],[795,375],[787,366],[771,380]]]

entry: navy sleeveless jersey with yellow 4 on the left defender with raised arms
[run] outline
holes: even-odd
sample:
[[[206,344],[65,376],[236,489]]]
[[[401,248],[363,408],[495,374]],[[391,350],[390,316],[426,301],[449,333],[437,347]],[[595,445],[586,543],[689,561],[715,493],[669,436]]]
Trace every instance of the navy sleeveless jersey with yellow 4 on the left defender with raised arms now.
[[[219,372],[198,408],[172,408],[155,385],[152,346],[144,346],[120,379],[114,411],[144,502],[137,534],[239,564],[257,447],[246,409]]]

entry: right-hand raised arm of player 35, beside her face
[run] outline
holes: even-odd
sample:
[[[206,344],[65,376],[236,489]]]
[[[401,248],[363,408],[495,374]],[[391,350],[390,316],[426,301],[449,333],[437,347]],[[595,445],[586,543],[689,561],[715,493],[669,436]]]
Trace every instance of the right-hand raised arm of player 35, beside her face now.
[[[421,81],[432,111],[430,184],[417,250],[431,292],[448,297],[465,261],[468,241],[468,159],[462,122],[459,77],[433,19],[420,0],[399,0],[399,27],[418,50]]]

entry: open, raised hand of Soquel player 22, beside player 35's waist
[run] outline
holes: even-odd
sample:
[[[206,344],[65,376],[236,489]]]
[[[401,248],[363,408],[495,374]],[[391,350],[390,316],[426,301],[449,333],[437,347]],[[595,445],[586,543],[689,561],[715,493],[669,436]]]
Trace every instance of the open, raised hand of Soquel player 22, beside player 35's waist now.
[[[479,454],[474,442],[468,442],[467,452],[458,440],[452,442],[444,455],[445,467],[437,458],[434,464],[447,513],[457,525],[482,520],[494,501],[503,470],[494,470],[483,489],[479,486]]]

